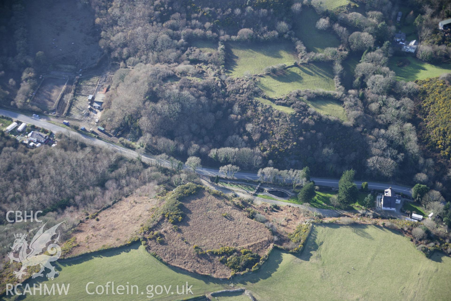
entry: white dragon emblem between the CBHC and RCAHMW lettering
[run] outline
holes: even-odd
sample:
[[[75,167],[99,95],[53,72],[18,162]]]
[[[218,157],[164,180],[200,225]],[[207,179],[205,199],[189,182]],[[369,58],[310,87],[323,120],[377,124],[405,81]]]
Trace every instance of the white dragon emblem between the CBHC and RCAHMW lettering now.
[[[63,221],[64,222],[64,221]],[[56,235],[56,228],[60,226],[63,222],[60,222],[59,224],[56,224],[55,226],[48,229],[46,232],[44,232],[44,227],[46,226],[46,223],[42,225],[42,227],[37,231],[33,239],[31,240],[30,245],[28,245],[28,241],[26,241],[26,238],[28,234],[14,234],[15,241],[11,249],[13,249],[12,252],[8,253],[9,259],[11,259],[9,262],[12,263],[13,261],[17,261],[22,263],[22,268],[19,271],[14,271],[14,275],[16,275],[16,278],[22,279],[22,275],[26,275],[27,273],[25,270],[28,267],[32,267],[35,265],[40,265],[41,270],[38,273],[33,273],[32,278],[36,277],[43,277],[44,269],[50,269],[50,273],[47,273],[46,276],[49,279],[54,279],[55,275],[59,274],[58,271],[55,271],[55,268],[50,264],[52,261],[55,261],[60,258],[61,255],[61,248],[56,243],[59,242],[60,239],[60,233],[58,232],[58,237],[47,246],[47,243],[51,242],[52,236]],[[45,253],[42,252],[42,249],[47,247],[47,252],[50,255],[47,254],[41,254]],[[18,251],[19,257],[14,257],[14,252]]]

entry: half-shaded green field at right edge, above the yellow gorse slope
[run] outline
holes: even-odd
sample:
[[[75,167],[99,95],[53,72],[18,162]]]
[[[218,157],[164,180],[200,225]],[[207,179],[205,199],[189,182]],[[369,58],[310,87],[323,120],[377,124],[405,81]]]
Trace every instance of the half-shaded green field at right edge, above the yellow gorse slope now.
[[[396,62],[403,59],[409,60],[410,65],[398,67]],[[431,65],[413,56],[393,56],[388,63],[388,67],[395,71],[396,79],[406,82],[414,81],[415,79],[437,77],[441,74],[451,72],[451,64]]]

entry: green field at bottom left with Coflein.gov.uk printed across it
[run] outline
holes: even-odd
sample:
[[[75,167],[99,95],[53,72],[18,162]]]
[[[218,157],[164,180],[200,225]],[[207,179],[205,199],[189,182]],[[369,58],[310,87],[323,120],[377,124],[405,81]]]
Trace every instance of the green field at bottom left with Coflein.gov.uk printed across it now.
[[[54,281],[45,281],[48,285],[52,283],[70,283],[70,291],[67,296],[29,296],[29,300],[146,300],[147,285],[172,285],[174,295],[161,295],[158,300],[177,300],[187,297],[176,294],[175,287],[186,284],[193,285],[194,295],[201,295],[206,292],[215,292],[226,289],[223,284],[213,278],[197,276],[183,273],[180,270],[170,269],[165,264],[150,255],[141,244],[134,244],[130,247],[123,247],[116,250],[108,250],[97,255],[84,255],[79,259],[68,259],[57,264],[60,274]],[[95,282],[93,289],[97,285],[105,285],[107,281],[114,281],[115,286],[138,285],[139,292],[143,295],[88,295],[85,287],[87,282]],[[30,282],[31,286],[34,280]],[[91,287],[89,287],[91,290]],[[164,291],[164,290],[163,290]],[[181,288],[179,288],[181,291]],[[192,295],[189,295],[192,296]],[[150,299],[147,299],[150,300]]]

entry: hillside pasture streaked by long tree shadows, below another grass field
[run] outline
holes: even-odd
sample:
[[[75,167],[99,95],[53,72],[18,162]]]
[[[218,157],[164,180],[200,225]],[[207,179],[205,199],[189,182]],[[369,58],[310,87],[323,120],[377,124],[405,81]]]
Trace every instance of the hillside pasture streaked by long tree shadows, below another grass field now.
[[[281,97],[298,89],[335,90],[331,64],[319,62],[285,69],[278,76],[262,77],[258,86],[269,97]]]

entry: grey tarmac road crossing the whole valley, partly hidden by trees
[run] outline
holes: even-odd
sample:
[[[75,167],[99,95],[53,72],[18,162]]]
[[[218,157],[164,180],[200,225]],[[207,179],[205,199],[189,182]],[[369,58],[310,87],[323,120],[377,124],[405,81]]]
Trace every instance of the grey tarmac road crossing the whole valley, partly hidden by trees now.
[[[9,111],[9,110],[5,110],[5,109],[0,109],[0,115],[7,116],[7,117],[10,117],[13,119],[17,119],[22,122],[31,123],[33,125],[40,126],[40,127],[46,128],[48,130],[51,130],[54,133],[66,133],[71,138],[79,139],[87,144],[110,148],[116,152],[121,153],[122,155],[124,155],[126,157],[138,157],[138,153],[136,153],[135,151],[133,151],[131,149],[124,148],[122,146],[118,146],[118,145],[115,145],[112,143],[108,143],[103,140],[95,139],[95,138],[80,134],[78,132],[67,130],[61,126],[49,123],[46,121],[46,120],[49,120],[48,117],[46,117],[46,116],[41,116],[39,118],[35,118],[32,116],[27,116],[25,114],[21,114],[21,113],[15,112],[15,111]],[[147,155],[143,155],[142,158],[143,158],[143,161],[154,160],[151,156],[147,156]],[[170,163],[163,162],[163,165],[168,167],[168,166],[170,166]],[[188,168],[188,167],[185,167],[185,168]],[[219,171],[214,168],[202,167],[202,168],[198,168],[196,171],[198,174],[203,175],[203,176],[221,175],[219,173]],[[235,173],[235,178],[236,179],[247,179],[247,180],[258,180],[257,174],[248,173],[248,172],[237,172],[237,173]],[[324,178],[312,177],[312,178],[310,178],[310,180],[315,181],[316,185],[328,186],[328,187],[338,187],[338,179],[324,179]],[[362,185],[362,181],[355,181],[355,184],[357,184],[357,186],[360,187],[360,185]],[[388,186],[391,186],[391,188],[393,188],[398,193],[402,192],[406,195],[411,195],[410,187],[401,186],[401,185],[390,185],[390,184],[377,183],[377,182],[368,182],[369,189],[385,190],[388,188]]]

